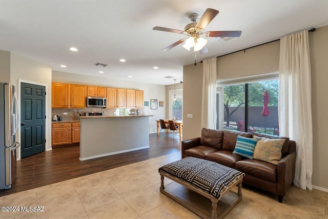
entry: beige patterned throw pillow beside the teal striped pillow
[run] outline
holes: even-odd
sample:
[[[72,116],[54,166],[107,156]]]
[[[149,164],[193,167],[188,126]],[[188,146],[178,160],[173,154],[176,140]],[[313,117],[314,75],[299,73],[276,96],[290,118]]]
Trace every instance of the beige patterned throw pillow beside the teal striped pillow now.
[[[265,137],[253,136],[258,142],[255,146],[253,158],[278,165],[281,160],[281,148],[284,139],[269,139]]]

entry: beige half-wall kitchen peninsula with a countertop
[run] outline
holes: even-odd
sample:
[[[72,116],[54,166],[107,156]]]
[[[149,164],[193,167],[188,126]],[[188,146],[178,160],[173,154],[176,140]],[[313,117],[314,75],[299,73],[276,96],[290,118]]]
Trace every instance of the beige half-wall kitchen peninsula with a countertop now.
[[[149,116],[79,116],[79,160],[149,148]]]

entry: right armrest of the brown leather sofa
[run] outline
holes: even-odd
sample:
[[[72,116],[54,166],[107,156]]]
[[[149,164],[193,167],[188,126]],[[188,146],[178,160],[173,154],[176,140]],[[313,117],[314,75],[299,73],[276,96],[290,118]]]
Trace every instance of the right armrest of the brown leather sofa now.
[[[295,176],[296,152],[286,154],[278,163],[277,167],[277,194],[285,195],[285,191],[293,183]]]

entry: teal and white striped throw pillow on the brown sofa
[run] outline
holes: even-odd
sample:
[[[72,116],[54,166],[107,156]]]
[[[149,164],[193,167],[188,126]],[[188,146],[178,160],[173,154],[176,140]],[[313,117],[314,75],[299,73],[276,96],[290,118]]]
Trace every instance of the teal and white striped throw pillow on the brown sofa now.
[[[253,151],[256,143],[257,139],[255,138],[243,137],[238,135],[235,150],[233,151],[233,153],[253,159]]]

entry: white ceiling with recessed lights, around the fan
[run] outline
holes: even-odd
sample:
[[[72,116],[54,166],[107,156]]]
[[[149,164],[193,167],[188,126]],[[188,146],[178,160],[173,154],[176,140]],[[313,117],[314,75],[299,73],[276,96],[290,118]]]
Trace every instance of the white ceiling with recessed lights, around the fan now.
[[[153,27],[184,30],[191,23],[189,14],[201,16],[207,8],[217,9],[219,14],[206,31],[241,30],[241,36],[227,42],[209,38],[209,52],[203,55],[186,50],[182,44],[162,51],[185,37],[154,31]],[[321,27],[328,24],[327,11],[327,0],[1,0],[0,50],[34,59],[56,71],[169,85],[173,79],[183,81],[182,67],[194,63],[195,54],[199,62]],[[79,51],[71,52],[70,47]],[[127,62],[119,62],[120,58]],[[168,75],[174,78],[163,77]]]

